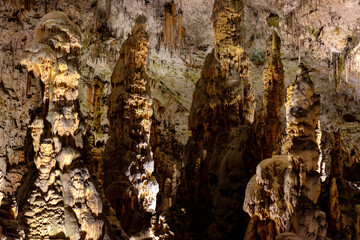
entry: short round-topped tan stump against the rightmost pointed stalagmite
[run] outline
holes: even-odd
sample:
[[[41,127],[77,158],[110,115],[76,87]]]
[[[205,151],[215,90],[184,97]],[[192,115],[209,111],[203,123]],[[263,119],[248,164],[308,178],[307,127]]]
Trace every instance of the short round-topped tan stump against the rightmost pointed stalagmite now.
[[[264,236],[274,239],[276,232],[284,232],[290,219],[284,199],[284,177],[288,166],[285,155],[265,159],[259,163],[256,175],[247,185],[244,211],[256,224],[261,239],[265,239]],[[273,222],[269,223],[269,220]],[[246,236],[246,239],[252,238],[255,236]]]

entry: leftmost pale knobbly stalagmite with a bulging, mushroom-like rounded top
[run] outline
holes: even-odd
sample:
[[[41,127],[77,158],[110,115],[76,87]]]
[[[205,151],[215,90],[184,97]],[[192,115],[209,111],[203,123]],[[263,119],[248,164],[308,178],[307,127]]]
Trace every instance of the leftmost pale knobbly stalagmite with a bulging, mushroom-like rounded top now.
[[[44,84],[43,115],[29,126],[37,174],[20,209],[26,239],[104,237],[102,199],[83,162],[79,50],[80,32],[62,12],[45,15],[25,47],[22,64]]]

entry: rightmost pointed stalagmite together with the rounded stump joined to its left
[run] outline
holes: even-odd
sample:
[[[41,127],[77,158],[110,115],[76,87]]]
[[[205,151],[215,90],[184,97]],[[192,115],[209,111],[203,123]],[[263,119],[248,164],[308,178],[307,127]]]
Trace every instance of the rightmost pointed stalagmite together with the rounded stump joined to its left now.
[[[287,94],[288,155],[263,160],[246,189],[244,210],[252,217],[247,239],[256,232],[261,239],[284,232],[302,239],[326,238],[326,215],[316,205],[321,187],[315,132],[319,100],[308,70],[300,65]]]

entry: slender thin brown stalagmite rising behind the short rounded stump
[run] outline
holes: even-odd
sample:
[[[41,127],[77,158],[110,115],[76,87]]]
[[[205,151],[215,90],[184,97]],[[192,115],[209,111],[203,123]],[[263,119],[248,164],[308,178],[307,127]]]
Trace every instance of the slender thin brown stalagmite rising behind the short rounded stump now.
[[[280,154],[281,112],[285,101],[284,70],[281,62],[281,40],[274,31],[267,40],[267,67],[263,72],[265,85],[263,95],[264,144],[263,158],[270,158],[275,152]]]

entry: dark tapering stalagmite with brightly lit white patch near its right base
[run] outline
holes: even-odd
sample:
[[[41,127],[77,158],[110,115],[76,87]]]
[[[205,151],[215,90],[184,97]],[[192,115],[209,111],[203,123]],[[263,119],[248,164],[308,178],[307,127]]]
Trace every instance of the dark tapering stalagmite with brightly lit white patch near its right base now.
[[[104,154],[104,189],[124,228],[150,223],[136,219],[136,215],[143,210],[155,211],[159,191],[152,175],[154,160],[149,144],[152,102],[145,72],[149,38],[145,27],[146,18],[138,17],[111,78],[108,116],[112,134]],[[129,217],[134,215],[134,219]]]

